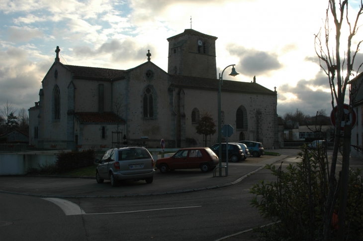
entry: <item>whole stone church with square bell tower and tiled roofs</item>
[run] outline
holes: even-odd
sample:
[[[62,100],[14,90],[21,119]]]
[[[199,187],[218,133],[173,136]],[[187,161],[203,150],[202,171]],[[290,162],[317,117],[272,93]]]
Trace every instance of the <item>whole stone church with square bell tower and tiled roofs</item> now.
[[[151,61],[150,52],[147,62],[127,70],[65,65],[57,46],[39,102],[29,109],[29,144],[74,149],[127,140],[160,148],[164,139],[165,148],[202,146],[195,129],[201,115],[208,112],[218,125],[217,37],[185,29],[167,40],[168,72]],[[234,128],[228,141],[278,148],[276,106],[276,90],[255,79],[223,80],[221,121]],[[210,142],[208,137],[208,144],[217,142],[218,131]]]

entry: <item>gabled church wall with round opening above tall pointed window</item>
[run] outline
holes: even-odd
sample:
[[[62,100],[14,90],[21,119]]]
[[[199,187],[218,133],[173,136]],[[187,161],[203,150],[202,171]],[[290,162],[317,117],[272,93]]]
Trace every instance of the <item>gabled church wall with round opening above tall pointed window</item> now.
[[[148,70],[153,71],[151,78],[146,76]],[[125,118],[127,123],[128,144],[141,144],[160,148],[163,138],[166,147],[175,146],[175,122],[168,96],[169,76],[156,65],[148,62],[132,71],[127,76],[125,86]],[[116,84],[118,85],[118,83]],[[154,97],[154,117],[143,117],[143,95],[150,87]],[[119,88],[115,88],[119,89]],[[148,139],[142,139],[148,136]]]

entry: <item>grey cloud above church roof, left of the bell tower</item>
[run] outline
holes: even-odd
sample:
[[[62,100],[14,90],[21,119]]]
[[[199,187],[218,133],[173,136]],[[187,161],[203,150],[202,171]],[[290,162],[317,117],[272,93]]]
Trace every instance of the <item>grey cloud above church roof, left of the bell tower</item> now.
[[[111,60],[115,62],[143,59],[147,50],[154,49],[153,46],[138,46],[132,39],[125,39],[121,42],[118,39],[112,39],[110,42],[103,43],[98,49],[92,50],[89,46],[75,48],[77,56],[97,56],[102,54],[111,54]]]

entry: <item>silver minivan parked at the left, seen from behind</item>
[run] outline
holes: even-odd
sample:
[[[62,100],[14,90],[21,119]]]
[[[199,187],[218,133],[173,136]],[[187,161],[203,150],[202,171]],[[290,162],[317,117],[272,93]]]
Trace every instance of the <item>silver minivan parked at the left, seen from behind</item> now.
[[[154,179],[154,159],[144,147],[129,146],[113,148],[106,151],[96,168],[96,181],[110,180],[111,186],[117,186],[119,180],[145,180],[152,183]]]

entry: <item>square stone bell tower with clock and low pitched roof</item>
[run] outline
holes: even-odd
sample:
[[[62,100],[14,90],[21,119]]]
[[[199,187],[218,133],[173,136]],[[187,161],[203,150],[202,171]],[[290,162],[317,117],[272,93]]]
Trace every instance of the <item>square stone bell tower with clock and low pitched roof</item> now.
[[[193,29],[167,39],[168,73],[202,78],[217,78],[215,40],[217,37]]]

